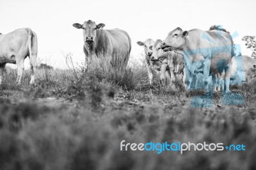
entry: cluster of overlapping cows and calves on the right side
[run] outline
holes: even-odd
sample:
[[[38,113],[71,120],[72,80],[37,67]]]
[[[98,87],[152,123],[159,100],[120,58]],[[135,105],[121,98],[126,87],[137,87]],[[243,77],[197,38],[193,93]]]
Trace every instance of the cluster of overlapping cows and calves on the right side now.
[[[232,36],[224,31],[183,31],[177,27],[163,42],[147,39],[137,43],[145,50],[150,84],[152,72],[160,70],[161,79],[168,77],[170,84],[175,81],[175,74],[182,73],[185,88],[196,89],[197,75],[202,73],[204,89],[210,91],[211,77],[213,91],[222,89],[227,93],[230,80],[244,82],[256,77],[256,60],[235,56]]]

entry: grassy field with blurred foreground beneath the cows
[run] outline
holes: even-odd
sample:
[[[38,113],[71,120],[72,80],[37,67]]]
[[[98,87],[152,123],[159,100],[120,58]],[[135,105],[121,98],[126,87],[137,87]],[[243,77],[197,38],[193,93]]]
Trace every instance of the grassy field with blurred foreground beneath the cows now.
[[[256,169],[256,86],[233,86],[244,103],[192,107],[204,91],[159,81],[147,69],[116,59],[93,58],[70,70],[41,68],[29,86],[26,71],[7,68],[0,90],[0,169]],[[115,65],[113,64],[115,63]],[[120,151],[126,143],[244,144],[246,151]]]

